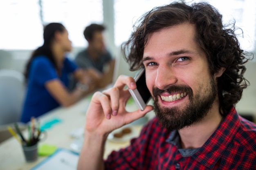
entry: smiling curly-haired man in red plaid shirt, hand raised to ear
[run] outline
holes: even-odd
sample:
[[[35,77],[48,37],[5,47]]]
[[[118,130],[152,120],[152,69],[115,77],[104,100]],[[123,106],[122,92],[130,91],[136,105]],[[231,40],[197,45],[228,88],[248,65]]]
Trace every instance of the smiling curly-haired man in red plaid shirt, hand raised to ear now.
[[[127,112],[132,77],[94,93],[79,170],[228,170],[256,167],[256,124],[238,115],[249,59],[233,27],[207,3],[184,2],[144,14],[124,44],[131,70],[145,68],[156,117],[130,146],[103,160],[108,134],[153,109]]]

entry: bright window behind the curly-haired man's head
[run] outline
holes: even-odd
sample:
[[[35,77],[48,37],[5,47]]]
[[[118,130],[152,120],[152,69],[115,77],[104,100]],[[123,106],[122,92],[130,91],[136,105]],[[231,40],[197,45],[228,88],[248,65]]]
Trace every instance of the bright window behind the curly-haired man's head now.
[[[155,6],[168,4],[173,0],[115,0],[115,44],[120,46],[128,40],[134,22],[146,11]],[[186,0],[186,2],[200,2],[200,0]],[[238,36],[241,47],[254,51],[256,41],[256,1],[252,0],[208,0],[223,15],[223,22],[233,18],[236,26],[243,29],[243,36]],[[237,32],[240,34],[241,32]]]

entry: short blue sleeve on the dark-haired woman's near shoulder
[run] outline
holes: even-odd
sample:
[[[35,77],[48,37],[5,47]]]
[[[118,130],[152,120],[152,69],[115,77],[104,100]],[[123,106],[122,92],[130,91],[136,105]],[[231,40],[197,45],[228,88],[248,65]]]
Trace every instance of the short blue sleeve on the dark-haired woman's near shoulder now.
[[[46,57],[35,58],[31,64],[30,73],[29,77],[39,84],[58,78],[54,65]]]

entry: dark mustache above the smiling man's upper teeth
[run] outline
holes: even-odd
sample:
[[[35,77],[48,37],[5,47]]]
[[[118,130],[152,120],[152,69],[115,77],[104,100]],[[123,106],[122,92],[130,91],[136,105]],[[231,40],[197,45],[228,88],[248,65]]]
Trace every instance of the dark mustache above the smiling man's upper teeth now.
[[[157,97],[161,95],[162,93],[175,93],[175,92],[186,92],[189,97],[193,96],[192,88],[186,85],[172,85],[168,86],[166,89],[159,89],[157,87],[153,87],[153,97]]]

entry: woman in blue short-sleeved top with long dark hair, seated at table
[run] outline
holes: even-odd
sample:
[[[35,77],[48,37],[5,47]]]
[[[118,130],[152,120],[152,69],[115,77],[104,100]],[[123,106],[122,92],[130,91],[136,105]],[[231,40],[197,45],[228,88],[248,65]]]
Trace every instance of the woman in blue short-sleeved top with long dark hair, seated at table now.
[[[60,23],[45,26],[44,44],[36,49],[27,63],[27,93],[21,121],[28,122],[58,107],[70,106],[92,91],[90,76],[65,55],[72,50],[68,32]],[[68,91],[68,75],[79,80],[74,91]]]

